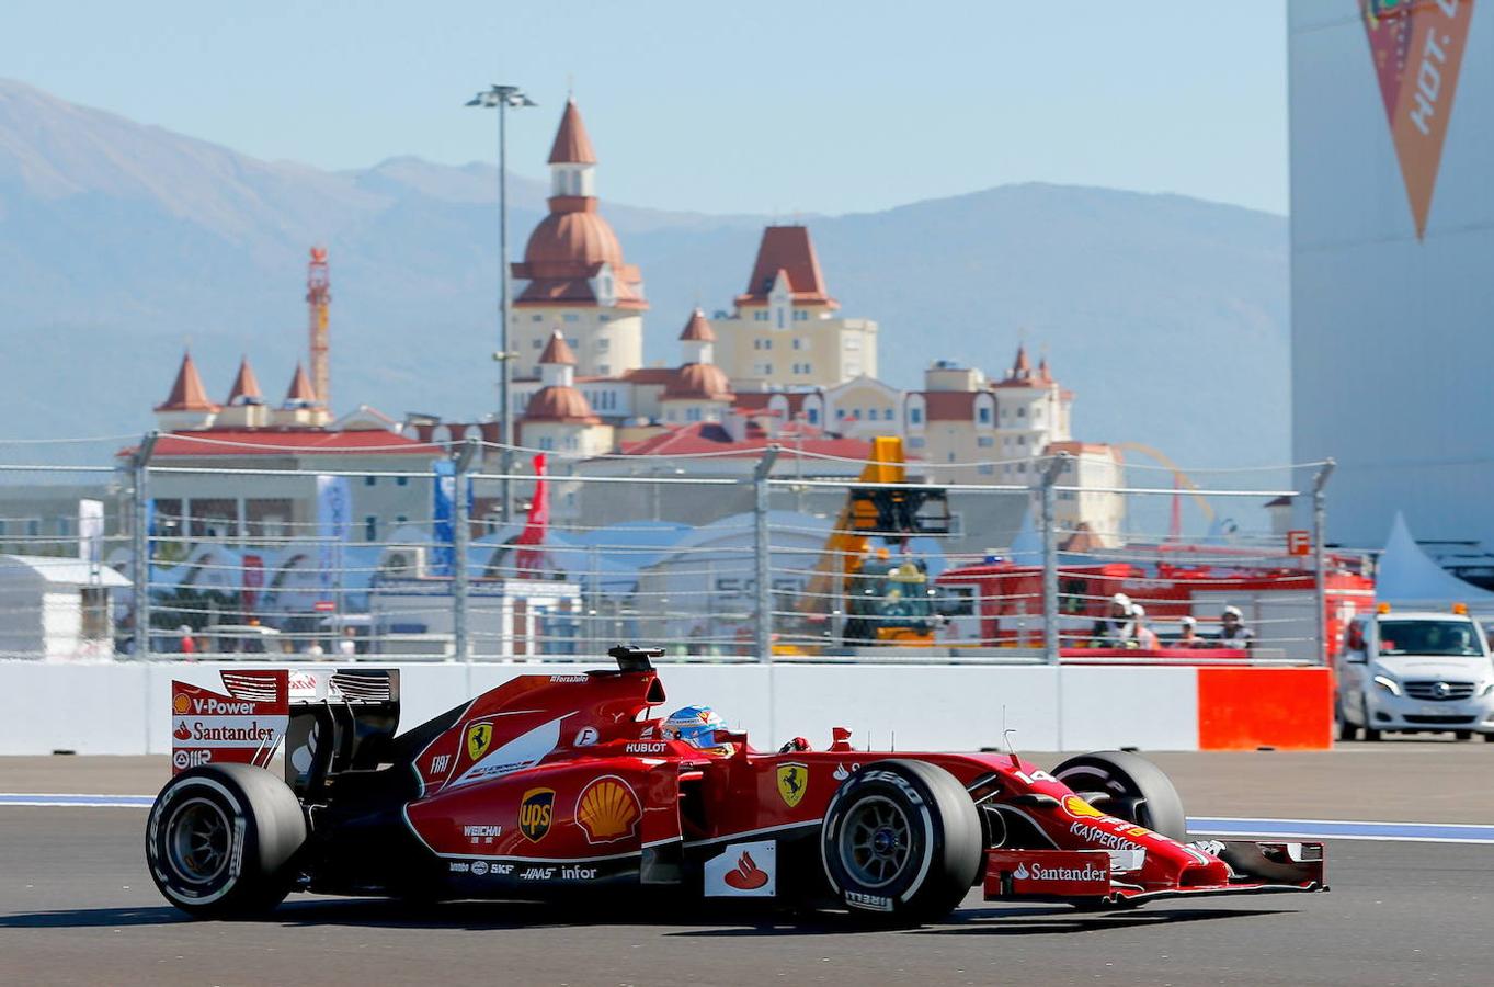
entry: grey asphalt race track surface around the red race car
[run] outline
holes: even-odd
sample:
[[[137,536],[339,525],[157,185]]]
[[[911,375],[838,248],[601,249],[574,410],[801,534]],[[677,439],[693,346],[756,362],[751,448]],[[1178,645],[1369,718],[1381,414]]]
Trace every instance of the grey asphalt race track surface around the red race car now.
[[[269,921],[193,923],[145,873],[142,809],[0,805],[0,983],[1494,981],[1494,830],[1478,828],[1494,808],[1494,745],[1360,743],[1319,754],[1155,760],[1195,818],[1475,827],[1351,827],[1360,839],[1330,843],[1328,894],[1164,902],[1095,915],[996,908],[976,891],[949,923],[907,932],[865,932],[838,915],[796,923],[668,903],[412,908],[309,896],[293,896]],[[0,793],[12,796],[149,794],[164,776],[164,758],[0,758]]]

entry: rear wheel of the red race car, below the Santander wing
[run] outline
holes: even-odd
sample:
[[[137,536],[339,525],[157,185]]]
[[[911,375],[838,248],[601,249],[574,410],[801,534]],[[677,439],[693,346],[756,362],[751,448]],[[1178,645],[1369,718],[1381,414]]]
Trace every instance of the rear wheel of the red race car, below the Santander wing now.
[[[266,912],[290,891],[287,864],[306,842],[290,788],[249,764],[205,764],[172,778],[145,824],[145,858],[166,900],[203,918]]]

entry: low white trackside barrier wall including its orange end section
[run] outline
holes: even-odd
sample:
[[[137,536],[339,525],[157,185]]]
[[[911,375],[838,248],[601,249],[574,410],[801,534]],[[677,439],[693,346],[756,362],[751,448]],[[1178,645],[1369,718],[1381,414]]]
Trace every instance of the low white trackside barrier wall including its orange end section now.
[[[0,755],[167,754],[170,682],[218,686],[247,662],[69,665],[0,662]],[[329,662],[329,667],[330,662]],[[399,664],[408,730],[518,674],[574,664]],[[660,665],[669,703],[710,703],[753,746],[793,736],[816,746],[844,725],[877,749],[1023,751],[1325,749],[1333,685],[1325,668],[1065,665]]]

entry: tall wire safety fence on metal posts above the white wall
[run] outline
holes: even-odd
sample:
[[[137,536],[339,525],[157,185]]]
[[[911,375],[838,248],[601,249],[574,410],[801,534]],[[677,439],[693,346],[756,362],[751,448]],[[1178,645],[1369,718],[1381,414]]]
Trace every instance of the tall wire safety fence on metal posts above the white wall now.
[[[1300,664],[1373,603],[1321,467],[220,452],[12,450],[0,655]]]

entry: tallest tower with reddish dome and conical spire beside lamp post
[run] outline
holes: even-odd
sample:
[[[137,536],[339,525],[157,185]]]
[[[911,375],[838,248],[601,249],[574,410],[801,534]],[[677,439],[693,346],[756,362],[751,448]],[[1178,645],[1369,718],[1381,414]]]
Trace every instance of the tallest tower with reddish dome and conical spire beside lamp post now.
[[[517,380],[541,375],[541,354],[560,332],[581,377],[617,377],[642,366],[644,283],[623,260],[617,233],[598,212],[596,153],[575,100],[566,100],[550,148],[550,214],[511,266],[523,283],[509,313]],[[517,286],[515,286],[517,287]],[[514,395],[512,411],[526,399]]]

